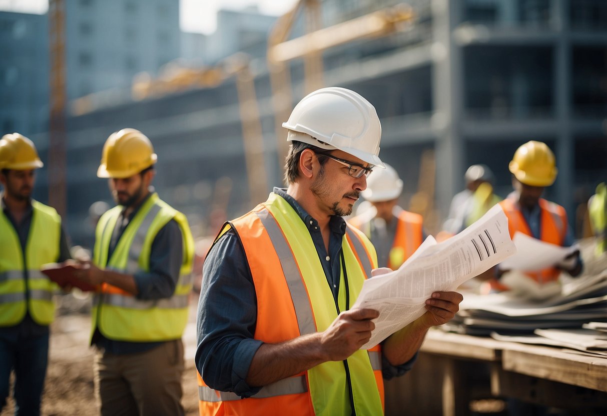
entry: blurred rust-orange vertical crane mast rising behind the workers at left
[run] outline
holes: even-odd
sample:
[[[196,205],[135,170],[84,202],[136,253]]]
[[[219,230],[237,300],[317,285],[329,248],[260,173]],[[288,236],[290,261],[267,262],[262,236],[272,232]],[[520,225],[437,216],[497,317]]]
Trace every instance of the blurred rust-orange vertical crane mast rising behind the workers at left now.
[[[49,1],[50,114],[49,114],[49,203],[66,214],[66,69],[65,4]]]

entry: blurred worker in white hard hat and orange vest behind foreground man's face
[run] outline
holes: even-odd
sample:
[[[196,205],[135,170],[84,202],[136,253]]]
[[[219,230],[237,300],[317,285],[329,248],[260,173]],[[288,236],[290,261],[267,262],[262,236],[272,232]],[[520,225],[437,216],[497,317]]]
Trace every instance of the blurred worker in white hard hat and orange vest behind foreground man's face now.
[[[426,238],[422,216],[407,212],[397,205],[402,180],[396,170],[384,164],[367,178],[367,189],[361,192],[372,205],[349,222],[371,240],[379,267],[398,269]]]

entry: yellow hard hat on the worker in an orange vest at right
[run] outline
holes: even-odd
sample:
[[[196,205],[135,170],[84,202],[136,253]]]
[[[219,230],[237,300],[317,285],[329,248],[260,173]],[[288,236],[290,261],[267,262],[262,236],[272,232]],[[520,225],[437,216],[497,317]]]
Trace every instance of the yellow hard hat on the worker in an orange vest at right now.
[[[529,186],[551,186],[558,172],[552,150],[546,143],[534,140],[517,149],[508,167],[521,183]]]

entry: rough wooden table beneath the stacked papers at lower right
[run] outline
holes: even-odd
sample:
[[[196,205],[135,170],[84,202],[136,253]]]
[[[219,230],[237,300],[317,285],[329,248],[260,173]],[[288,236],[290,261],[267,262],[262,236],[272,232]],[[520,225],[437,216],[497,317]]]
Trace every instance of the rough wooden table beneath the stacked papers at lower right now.
[[[489,397],[607,414],[607,358],[431,330],[413,370],[385,390],[387,415],[468,415]]]

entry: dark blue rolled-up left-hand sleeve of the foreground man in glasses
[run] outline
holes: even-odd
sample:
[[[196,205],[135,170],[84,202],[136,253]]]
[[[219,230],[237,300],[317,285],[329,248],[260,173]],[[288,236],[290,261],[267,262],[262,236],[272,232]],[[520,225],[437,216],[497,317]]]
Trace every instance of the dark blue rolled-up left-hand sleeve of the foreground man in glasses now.
[[[195,363],[212,389],[250,397],[260,387],[245,382],[253,356],[257,298],[246,255],[229,230],[214,244],[203,266],[197,313]]]

